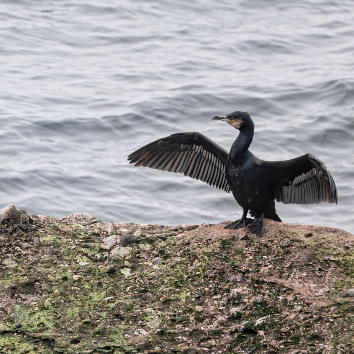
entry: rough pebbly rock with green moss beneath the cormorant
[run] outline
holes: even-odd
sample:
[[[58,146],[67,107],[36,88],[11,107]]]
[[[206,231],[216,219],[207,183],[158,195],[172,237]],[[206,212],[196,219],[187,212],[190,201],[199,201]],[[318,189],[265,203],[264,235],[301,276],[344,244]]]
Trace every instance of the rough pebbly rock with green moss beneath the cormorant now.
[[[1,353],[354,352],[352,234],[17,215],[0,233]]]

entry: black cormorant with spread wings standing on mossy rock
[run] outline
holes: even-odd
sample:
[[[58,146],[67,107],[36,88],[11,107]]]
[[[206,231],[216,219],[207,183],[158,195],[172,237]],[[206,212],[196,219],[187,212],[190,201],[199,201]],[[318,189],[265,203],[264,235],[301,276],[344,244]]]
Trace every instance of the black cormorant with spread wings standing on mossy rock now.
[[[311,154],[286,161],[263,161],[249,151],[255,130],[247,112],[214,116],[240,131],[230,153],[198,132],[176,133],[158,139],[128,156],[130,164],[180,172],[225,192],[243,208],[241,219],[225,228],[249,226],[261,236],[263,218],[281,222],[275,202],[284,204],[337,203],[330,172]],[[255,219],[247,218],[247,213]]]

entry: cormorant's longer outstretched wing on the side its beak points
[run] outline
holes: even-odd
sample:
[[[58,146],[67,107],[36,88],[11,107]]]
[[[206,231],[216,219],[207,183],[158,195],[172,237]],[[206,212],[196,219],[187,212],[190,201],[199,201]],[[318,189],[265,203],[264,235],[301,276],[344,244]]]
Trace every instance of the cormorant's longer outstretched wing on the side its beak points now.
[[[225,164],[229,153],[198,132],[176,133],[143,146],[128,156],[130,164],[179,172],[230,192]]]

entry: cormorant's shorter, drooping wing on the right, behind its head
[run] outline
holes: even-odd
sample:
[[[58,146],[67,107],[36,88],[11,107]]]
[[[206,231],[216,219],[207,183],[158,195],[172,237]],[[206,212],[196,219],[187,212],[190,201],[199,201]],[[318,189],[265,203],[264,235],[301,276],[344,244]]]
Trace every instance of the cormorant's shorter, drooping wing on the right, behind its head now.
[[[267,163],[266,163],[267,164]],[[284,204],[337,203],[337,188],[327,167],[315,156],[305,154],[276,165],[275,199]],[[272,168],[276,168],[273,165]]]

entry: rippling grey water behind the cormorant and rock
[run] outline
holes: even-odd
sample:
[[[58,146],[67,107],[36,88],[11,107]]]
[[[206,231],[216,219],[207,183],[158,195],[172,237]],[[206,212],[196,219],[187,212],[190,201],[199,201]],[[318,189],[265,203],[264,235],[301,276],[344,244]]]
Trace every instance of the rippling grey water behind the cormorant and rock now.
[[[0,207],[103,221],[235,220],[231,194],[127,155],[181,131],[229,149],[213,115],[249,112],[264,160],[312,153],[338,205],[276,204],[284,222],[354,232],[354,2],[0,3]]]

